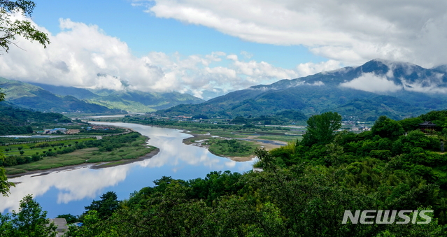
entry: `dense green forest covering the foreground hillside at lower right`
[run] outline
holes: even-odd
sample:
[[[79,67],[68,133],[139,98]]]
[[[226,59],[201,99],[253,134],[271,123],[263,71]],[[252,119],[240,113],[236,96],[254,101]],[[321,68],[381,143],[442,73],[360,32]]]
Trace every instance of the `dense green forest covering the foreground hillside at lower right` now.
[[[263,172],[164,176],[122,201],[108,192],[80,217],[64,215],[83,222],[66,236],[446,236],[447,110],[382,116],[360,134],[334,134],[340,120],[314,115],[302,141],[257,149]],[[425,134],[420,120],[444,129]],[[434,214],[429,224],[341,224],[345,210]]]

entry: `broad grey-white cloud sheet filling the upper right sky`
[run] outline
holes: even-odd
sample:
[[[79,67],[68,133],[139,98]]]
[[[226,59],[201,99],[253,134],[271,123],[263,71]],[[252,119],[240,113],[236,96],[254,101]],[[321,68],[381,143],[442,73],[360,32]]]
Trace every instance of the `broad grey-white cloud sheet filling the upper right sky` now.
[[[374,58],[445,64],[447,1],[134,0],[147,12],[246,41],[305,45],[345,64]]]

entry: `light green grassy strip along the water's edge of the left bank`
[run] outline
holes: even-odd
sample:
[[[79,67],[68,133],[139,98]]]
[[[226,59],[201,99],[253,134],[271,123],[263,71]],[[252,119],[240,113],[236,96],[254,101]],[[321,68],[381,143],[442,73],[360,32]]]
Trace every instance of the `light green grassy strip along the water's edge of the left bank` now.
[[[43,157],[43,159],[39,161],[28,164],[5,167],[5,169],[8,175],[13,175],[25,173],[27,171],[45,170],[49,168],[59,168],[83,163],[101,163],[125,159],[136,159],[156,149],[152,146],[146,147],[146,139],[147,138],[145,136],[140,135],[136,138],[136,141],[133,141],[132,143],[125,143],[125,145],[121,148],[116,148],[111,151],[100,152],[99,148],[84,148],[62,155]]]

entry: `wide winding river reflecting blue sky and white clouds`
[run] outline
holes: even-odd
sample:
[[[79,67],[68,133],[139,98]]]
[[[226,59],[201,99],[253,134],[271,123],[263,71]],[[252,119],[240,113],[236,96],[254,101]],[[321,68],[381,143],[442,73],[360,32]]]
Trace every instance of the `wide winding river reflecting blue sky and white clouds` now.
[[[94,122],[134,129],[150,140],[148,145],[160,149],[150,159],[110,168],[89,167],[65,171],[42,172],[11,178],[17,182],[8,197],[0,196],[0,213],[17,210],[19,201],[32,194],[48,211],[47,217],[60,214],[80,215],[93,200],[108,191],[118,195],[118,199],[128,199],[129,194],[142,187],[153,186],[153,180],[162,176],[190,180],[204,178],[211,171],[232,171],[243,173],[252,168],[253,161],[236,162],[218,157],[206,148],[183,144],[183,139],[191,137],[176,129],[149,127],[141,124]]]

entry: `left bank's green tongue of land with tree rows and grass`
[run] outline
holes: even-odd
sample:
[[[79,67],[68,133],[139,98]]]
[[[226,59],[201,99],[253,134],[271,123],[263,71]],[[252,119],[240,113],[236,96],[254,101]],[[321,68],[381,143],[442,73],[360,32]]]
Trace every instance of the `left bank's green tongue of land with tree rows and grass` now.
[[[49,141],[2,146],[7,151],[0,159],[9,175],[27,171],[59,168],[83,163],[100,163],[136,159],[155,147],[145,146],[146,137],[136,132],[101,139],[80,138],[66,141]],[[18,153],[18,154],[17,154]]]

